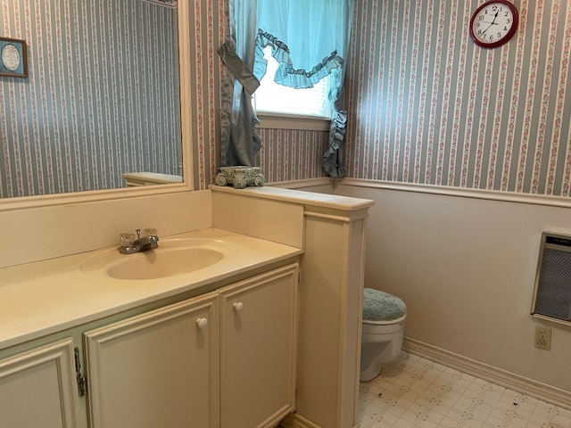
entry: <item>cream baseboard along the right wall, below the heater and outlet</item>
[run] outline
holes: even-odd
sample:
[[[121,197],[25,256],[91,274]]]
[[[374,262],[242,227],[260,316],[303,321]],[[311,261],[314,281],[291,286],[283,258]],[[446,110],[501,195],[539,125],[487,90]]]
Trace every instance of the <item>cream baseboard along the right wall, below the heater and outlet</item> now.
[[[547,383],[534,381],[519,374],[490,366],[489,364],[464,357],[449,350],[443,350],[442,348],[411,339],[410,337],[404,338],[402,350],[461,372],[472,374],[480,379],[496,383],[510,390],[522,392],[556,406],[571,409],[571,391],[562,390]]]

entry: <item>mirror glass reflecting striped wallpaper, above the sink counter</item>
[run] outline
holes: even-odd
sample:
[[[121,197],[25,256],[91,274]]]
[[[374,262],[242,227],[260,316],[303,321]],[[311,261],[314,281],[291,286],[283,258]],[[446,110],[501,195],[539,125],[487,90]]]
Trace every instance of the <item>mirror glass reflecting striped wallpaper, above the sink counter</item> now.
[[[0,77],[0,197],[182,181],[176,6],[4,2],[29,77]]]

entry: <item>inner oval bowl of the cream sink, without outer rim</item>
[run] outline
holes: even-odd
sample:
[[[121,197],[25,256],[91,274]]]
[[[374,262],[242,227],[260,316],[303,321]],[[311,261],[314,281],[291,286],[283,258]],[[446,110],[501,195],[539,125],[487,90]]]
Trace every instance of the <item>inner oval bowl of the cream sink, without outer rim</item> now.
[[[129,255],[109,268],[107,275],[116,279],[164,278],[207,268],[223,258],[222,252],[208,248],[145,251]]]

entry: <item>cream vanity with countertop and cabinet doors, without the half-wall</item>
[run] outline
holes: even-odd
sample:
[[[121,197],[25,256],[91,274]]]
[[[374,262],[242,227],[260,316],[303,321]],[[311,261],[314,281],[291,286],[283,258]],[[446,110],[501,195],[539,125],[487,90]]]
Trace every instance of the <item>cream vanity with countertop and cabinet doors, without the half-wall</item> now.
[[[24,316],[11,325],[4,312],[3,342],[39,336],[0,351],[3,424],[83,426],[78,401],[87,391],[92,427],[272,426],[294,410],[300,249],[218,229],[162,241],[165,248],[147,253],[112,248],[40,262],[34,270],[46,275],[28,276],[21,296],[3,287],[3,300]],[[218,263],[187,274],[130,280],[103,272],[139,256],[153,263],[161,251],[200,257],[218,247],[229,248]],[[7,270],[15,281],[29,268]],[[76,297],[62,298],[74,286]],[[21,332],[8,339],[11,327]]]

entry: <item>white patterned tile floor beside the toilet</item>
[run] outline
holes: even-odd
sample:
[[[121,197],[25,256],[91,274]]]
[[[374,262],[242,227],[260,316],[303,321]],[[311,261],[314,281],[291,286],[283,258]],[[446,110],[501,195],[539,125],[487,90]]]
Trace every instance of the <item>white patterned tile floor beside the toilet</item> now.
[[[571,410],[401,352],[360,383],[360,428],[571,428]]]

